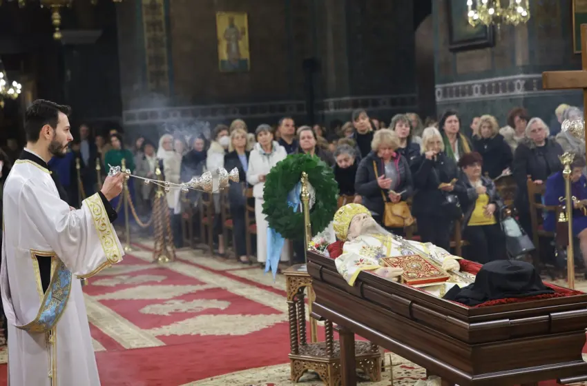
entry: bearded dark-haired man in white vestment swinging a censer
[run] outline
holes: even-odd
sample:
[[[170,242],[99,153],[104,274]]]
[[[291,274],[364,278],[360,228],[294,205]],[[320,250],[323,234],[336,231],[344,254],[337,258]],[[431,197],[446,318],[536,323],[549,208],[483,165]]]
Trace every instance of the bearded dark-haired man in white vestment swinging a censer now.
[[[73,139],[69,110],[32,103],[26,148],[4,185],[0,289],[12,386],[100,384],[79,278],[122,261],[108,201],[122,192],[124,174],[108,176],[81,209],[69,207],[47,165]]]

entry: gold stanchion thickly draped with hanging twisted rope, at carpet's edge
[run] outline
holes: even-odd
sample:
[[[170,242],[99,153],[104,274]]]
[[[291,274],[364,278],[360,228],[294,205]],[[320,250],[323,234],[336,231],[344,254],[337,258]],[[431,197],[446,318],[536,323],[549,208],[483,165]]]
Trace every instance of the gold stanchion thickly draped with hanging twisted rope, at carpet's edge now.
[[[159,167],[155,170],[157,180],[162,181],[162,174]],[[167,207],[165,194],[169,192],[169,187],[165,190],[157,185],[155,192],[155,202],[153,203],[153,227],[155,228],[155,245],[153,247],[153,261],[157,263],[169,263],[175,260],[175,245],[173,244],[173,233],[171,232],[171,219],[169,218],[169,208]]]

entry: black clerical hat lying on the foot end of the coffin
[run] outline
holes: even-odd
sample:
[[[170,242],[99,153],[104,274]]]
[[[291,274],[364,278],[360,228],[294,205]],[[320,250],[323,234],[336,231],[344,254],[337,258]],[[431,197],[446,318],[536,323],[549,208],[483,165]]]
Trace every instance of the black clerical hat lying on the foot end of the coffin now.
[[[443,298],[473,307],[486,301],[554,292],[542,283],[534,265],[525,261],[495,260],[481,267],[474,283],[463,288],[455,285]]]

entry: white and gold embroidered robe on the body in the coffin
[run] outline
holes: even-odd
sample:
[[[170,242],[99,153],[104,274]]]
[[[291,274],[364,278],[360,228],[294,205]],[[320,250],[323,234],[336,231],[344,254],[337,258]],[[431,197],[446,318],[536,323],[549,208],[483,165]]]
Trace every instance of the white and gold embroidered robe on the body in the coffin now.
[[[381,268],[381,258],[410,254],[430,256],[435,261],[442,262],[445,270],[459,270],[456,259],[460,257],[453,256],[436,245],[385,234],[363,235],[347,241],[343,246],[343,254],[336,258],[336,270],[349,285],[354,285],[359,272]]]

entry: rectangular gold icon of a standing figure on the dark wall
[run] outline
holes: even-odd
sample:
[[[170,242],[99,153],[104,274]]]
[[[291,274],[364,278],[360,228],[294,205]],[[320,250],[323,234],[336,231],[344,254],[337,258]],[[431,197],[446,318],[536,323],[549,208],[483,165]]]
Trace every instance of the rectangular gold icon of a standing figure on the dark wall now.
[[[251,69],[249,21],[245,12],[216,12],[218,67],[221,72]]]

